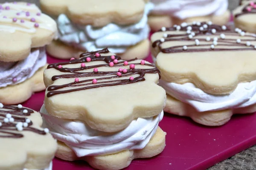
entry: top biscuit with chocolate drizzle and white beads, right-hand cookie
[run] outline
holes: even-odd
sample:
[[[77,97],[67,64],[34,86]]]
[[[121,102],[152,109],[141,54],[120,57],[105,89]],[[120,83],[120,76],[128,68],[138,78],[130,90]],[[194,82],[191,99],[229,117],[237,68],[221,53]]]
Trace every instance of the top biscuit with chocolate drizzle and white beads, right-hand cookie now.
[[[183,23],[151,37],[162,79],[192,82],[209,94],[229,94],[256,79],[256,37],[212,23]]]

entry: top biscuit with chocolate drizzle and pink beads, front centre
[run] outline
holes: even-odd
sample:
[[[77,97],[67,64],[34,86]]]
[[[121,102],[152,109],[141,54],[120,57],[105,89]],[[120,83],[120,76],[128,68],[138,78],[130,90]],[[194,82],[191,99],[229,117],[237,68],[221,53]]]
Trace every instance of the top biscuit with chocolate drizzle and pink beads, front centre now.
[[[116,132],[163,110],[166,94],[158,80],[159,70],[144,60],[124,61],[107,48],[84,53],[44,71],[45,107],[53,116]]]

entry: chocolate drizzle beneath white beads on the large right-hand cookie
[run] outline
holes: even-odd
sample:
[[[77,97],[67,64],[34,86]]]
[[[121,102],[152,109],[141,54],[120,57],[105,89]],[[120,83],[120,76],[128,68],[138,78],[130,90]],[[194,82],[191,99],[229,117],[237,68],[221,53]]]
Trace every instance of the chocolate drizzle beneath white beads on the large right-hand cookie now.
[[[191,32],[184,32],[188,30],[188,27],[191,27]],[[160,32],[162,30],[159,30]],[[177,31],[177,26],[166,28],[165,31]],[[180,34],[166,34],[166,37],[161,38],[160,40],[156,40],[152,43],[152,47],[155,48],[157,45],[161,52],[163,53],[180,53],[180,52],[205,52],[205,51],[237,51],[237,50],[255,50],[254,45],[247,45],[246,43],[237,43],[237,39],[228,39],[224,37],[221,38],[221,34],[224,34],[222,36],[239,36],[239,33],[235,31],[231,31],[226,26],[218,26],[214,24],[207,24],[206,22],[203,23],[195,23],[191,25],[186,25],[183,27],[180,27],[179,29]],[[183,32],[181,32],[183,31]],[[240,30],[241,31],[241,30]],[[195,34],[192,36],[192,32]],[[214,33],[212,33],[214,32]],[[242,31],[241,31],[242,32]],[[166,32],[167,33],[167,32]],[[243,32],[244,33],[244,32]],[[244,33],[245,34],[245,33]],[[189,35],[191,37],[189,37]],[[217,43],[218,45],[214,46],[214,48],[211,48],[213,39],[210,39],[209,41],[206,40],[207,36],[210,35],[216,35],[218,37]],[[250,39],[242,39],[242,41],[256,41],[256,37],[253,35],[244,35],[244,37],[250,37]],[[252,39],[253,38],[253,39]],[[163,41],[164,40],[164,41]],[[198,42],[204,42],[204,44],[195,44],[195,40],[198,40]],[[186,41],[188,42],[187,45],[174,45],[169,48],[162,48],[162,44],[164,42],[168,41]],[[193,45],[191,45],[191,42],[194,42]],[[207,42],[207,43],[205,43]],[[209,43],[208,43],[209,42]],[[183,47],[186,46],[187,49],[183,49]],[[217,48],[220,46],[221,48]],[[230,47],[243,47],[243,48],[230,48]],[[200,48],[202,47],[202,48]],[[208,47],[208,48],[206,48]],[[227,48],[226,48],[227,47]]]

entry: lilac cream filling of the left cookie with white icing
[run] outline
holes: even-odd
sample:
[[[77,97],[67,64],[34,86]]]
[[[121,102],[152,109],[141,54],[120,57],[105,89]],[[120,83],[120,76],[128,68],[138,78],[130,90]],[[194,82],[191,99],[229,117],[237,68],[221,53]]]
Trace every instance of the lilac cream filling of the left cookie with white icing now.
[[[45,48],[32,48],[29,56],[18,62],[0,62],[0,88],[16,85],[32,77],[39,68],[46,65]],[[17,81],[13,81],[14,78]]]

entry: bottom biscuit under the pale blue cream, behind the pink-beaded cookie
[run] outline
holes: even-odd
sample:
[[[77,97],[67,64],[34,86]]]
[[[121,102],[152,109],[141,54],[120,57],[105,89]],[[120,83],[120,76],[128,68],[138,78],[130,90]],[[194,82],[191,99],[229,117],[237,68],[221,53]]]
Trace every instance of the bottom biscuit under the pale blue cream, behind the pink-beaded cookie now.
[[[149,48],[150,42],[148,39],[146,39],[134,46],[127,48],[125,53],[116,55],[119,55],[124,60],[133,59],[135,57],[138,59],[144,59],[148,56]],[[50,45],[47,45],[46,51],[52,57],[59,59],[70,59],[71,57],[78,59],[79,55],[85,52],[66,45],[58,40],[54,40]]]

